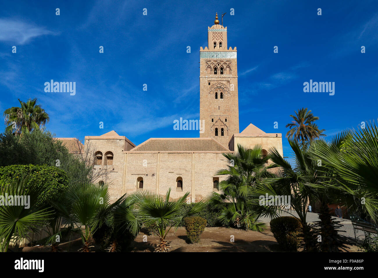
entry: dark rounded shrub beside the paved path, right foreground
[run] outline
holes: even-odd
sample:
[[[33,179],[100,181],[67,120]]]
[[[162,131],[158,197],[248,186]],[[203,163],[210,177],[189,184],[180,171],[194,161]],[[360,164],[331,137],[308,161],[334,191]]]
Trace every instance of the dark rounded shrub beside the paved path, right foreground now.
[[[281,216],[270,221],[270,230],[285,251],[297,251],[301,229],[301,221],[293,216]]]

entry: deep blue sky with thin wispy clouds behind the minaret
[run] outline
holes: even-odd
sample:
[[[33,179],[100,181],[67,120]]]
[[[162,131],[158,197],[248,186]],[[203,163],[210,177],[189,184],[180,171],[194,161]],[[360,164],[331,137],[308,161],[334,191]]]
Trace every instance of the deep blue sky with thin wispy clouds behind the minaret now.
[[[284,136],[301,107],[327,135],[377,119],[378,3],[368,0],[7,1],[0,109],[38,98],[57,137],[198,137],[173,121],[199,118],[199,49],[215,12],[227,12],[228,46],[238,51],[240,131],[253,123]],[[76,95],[44,92],[51,79],[76,82]],[[335,82],[335,95],[303,92],[310,79]],[[290,155],[285,138],[283,152]]]

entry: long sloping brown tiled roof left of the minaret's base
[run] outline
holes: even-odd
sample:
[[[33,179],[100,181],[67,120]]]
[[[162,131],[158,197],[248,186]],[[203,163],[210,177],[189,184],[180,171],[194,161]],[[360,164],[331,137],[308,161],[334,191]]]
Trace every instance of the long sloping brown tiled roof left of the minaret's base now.
[[[229,151],[212,138],[150,138],[131,151]]]

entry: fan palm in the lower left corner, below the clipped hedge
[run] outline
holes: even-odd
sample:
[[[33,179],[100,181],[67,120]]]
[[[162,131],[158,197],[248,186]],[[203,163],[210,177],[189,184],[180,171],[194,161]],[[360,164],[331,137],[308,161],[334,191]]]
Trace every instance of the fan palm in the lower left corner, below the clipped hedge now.
[[[51,211],[38,202],[46,189],[42,182],[28,183],[29,178],[3,182],[0,196],[27,196],[29,208],[23,205],[0,205],[0,252],[7,252],[11,241],[30,238],[30,232],[39,233],[51,216]],[[20,199],[19,199],[20,200]]]

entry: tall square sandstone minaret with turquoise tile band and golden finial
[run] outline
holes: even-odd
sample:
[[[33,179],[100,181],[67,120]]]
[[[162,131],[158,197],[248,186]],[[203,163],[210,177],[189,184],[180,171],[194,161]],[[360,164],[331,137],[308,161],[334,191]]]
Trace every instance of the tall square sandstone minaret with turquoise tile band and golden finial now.
[[[204,132],[229,147],[234,133],[239,133],[236,47],[227,49],[227,27],[208,27],[208,47],[200,48],[200,120]]]

